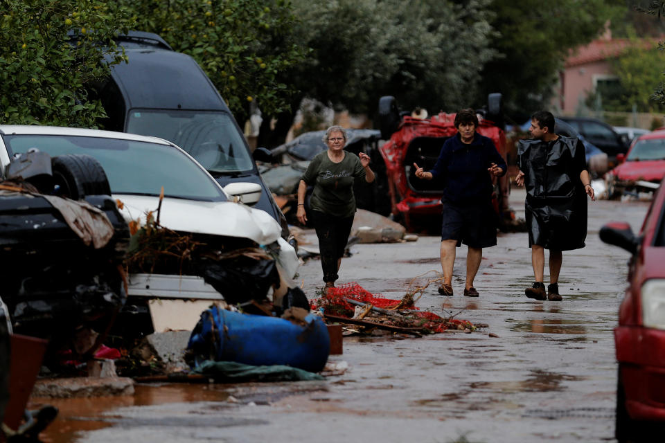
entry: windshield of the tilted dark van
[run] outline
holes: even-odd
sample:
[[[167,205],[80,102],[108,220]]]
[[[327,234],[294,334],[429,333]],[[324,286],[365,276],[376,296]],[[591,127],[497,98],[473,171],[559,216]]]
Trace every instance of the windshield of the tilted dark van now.
[[[133,109],[127,132],[172,141],[213,173],[254,169],[242,134],[224,112]]]

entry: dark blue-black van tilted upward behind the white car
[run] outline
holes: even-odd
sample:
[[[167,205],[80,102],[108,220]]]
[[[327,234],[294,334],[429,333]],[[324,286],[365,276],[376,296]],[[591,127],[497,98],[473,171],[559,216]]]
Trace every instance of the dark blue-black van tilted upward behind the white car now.
[[[118,37],[118,44],[129,62],[113,66],[111,77],[96,88],[108,115],[101,122],[104,129],[171,141],[222,186],[258,184],[261,196],[254,208],[276,219],[288,239],[286,218],[255,163],[271,161],[272,154],[263,147],[249,150],[229,107],[197,62],[152,33],[130,32]]]

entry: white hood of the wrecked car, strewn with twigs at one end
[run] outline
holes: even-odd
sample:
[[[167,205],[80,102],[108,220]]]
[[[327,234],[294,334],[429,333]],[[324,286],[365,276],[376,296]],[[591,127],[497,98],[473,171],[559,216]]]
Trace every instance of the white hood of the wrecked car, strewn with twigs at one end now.
[[[123,203],[127,221],[141,219],[157,211],[159,197],[114,195]],[[154,214],[156,217],[156,214]],[[277,221],[263,210],[249,208],[231,201],[192,201],[164,197],[159,209],[159,223],[180,232],[245,237],[264,245],[280,238]]]

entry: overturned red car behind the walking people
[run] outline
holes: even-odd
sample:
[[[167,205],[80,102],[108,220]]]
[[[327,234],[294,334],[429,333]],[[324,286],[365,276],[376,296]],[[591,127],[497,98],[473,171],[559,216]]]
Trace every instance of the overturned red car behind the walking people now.
[[[485,117],[479,119],[477,132],[491,138],[505,159],[506,135],[502,129],[500,100],[500,94],[490,94],[488,109],[484,111]],[[386,165],[391,213],[410,230],[415,217],[441,215],[443,189],[434,181],[416,179],[413,165],[417,163],[425,170],[434,167],[443,143],[457,134],[453,124],[455,114],[442,112],[432,118],[403,116],[395,98],[387,96],[379,102],[379,116],[381,136],[388,140],[379,151]],[[508,174],[498,181],[495,179],[493,202],[498,218],[512,222],[515,217],[508,209],[508,180]]]

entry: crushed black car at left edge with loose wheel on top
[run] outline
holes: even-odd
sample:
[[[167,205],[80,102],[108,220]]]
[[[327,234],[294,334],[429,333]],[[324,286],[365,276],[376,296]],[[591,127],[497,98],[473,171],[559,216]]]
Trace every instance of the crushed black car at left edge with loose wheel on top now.
[[[12,329],[48,339],[47,359],[71,345],[92,352],[125,302],[130,237],[104,172],[89,156],[51,159],[34,146],[2,149],[0,161],[1,296]],[[56,187],[76,201],[53,195]]]

